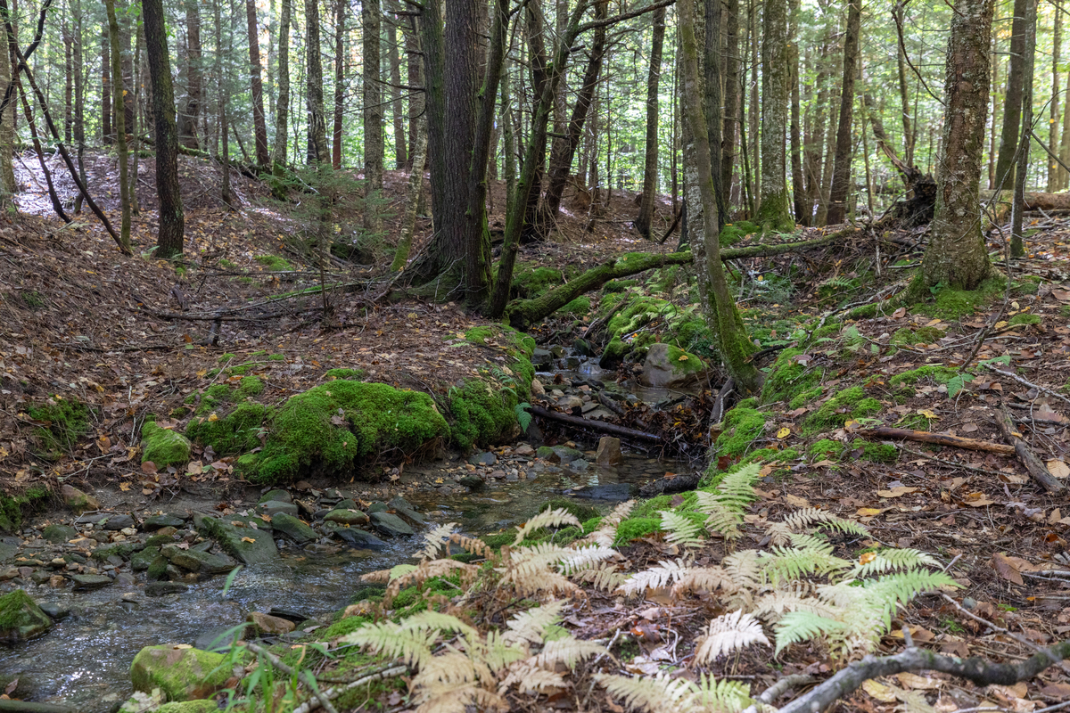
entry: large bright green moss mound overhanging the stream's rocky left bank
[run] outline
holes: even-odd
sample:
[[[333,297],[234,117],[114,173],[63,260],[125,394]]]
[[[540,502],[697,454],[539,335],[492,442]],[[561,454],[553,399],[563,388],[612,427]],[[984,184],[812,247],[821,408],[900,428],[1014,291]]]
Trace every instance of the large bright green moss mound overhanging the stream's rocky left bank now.
[[[448,436],[426,393],[339,379],[291,397],[271,419],[263,450],[239,464],[254,482],[281,483],[308,469],[351,472],[369,456],[409,455]]]

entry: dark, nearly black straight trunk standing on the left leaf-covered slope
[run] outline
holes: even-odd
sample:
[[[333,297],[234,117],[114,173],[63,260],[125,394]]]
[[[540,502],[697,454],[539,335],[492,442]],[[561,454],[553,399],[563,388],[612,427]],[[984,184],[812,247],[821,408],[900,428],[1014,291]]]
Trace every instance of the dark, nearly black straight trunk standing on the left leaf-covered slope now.
[[[163,0],[141,0],[146,55],[152,80],[152,115],[156,127],[156,193],[159,197],[159,232],[156,258],[182,253],[185,217],[179,190],[179,131],[174,121],[174,89],[167,53],[167,27]]]

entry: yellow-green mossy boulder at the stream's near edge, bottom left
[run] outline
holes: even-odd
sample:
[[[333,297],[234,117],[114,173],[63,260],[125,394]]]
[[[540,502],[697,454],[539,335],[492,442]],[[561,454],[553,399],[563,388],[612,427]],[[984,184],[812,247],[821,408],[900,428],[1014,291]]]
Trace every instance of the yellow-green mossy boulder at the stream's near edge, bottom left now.
[[[135,691],[159,688],[169,701],[207,698],[226,685],[231,677],[221,653],[174,645],[141,649],[131,664]]]

